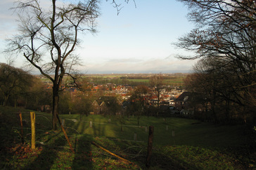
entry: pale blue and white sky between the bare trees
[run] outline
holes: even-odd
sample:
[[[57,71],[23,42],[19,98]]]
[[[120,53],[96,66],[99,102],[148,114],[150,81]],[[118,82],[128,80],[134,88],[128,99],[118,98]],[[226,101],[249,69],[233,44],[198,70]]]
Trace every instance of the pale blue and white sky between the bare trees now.
[[[6,38],[17,34],[16,15],[9,8],[14,0],[0,1],[0,62],[7,62],[2,52]],[[41,0],[41,2],[49,0]],[[111,1],[101,1],[97,33],[84,34],[77,54],[82,59],[82,73],[186,73],[196,61],[175,56],[189,54],[173,43],[193,29],[188,9],[175,0],[130,0],[117,15]],[[15,66],[25,63],[15,57]]]

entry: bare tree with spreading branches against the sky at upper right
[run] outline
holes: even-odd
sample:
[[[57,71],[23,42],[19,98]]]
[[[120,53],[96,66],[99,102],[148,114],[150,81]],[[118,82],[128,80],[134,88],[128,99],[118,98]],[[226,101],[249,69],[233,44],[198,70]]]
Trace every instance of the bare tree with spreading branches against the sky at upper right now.
[[[255,107],[256,1],[178,1],[189,7],[188,18],[197,26],[176,44],[179,48],[195,51],[196,55],[179,57],[215,58],[218,64],[211,70],[218,69],[222,73],[236,102]]]

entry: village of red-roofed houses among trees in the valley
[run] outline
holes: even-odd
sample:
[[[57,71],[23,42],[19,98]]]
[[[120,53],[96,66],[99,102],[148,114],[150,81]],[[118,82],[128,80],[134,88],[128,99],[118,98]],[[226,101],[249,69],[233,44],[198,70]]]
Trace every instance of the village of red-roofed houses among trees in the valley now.
[[[120,76],[120,75],[118,75]],[[143,78],[148,78],[148,75],[140,76]],[[180,75],[179,75],[180,76]],[[184,77],[186,74],[184,74]],[[44,86],[46,89],[51,89],[51,83],[44,81],[43,77],[39,77],[42,79]],[[106,78],[110,82],[120,80],[120,77],[111,77]],[[122,79],[122,77],[121,77]],[[134,112],[143,109],[141,112],[145,112],[146,110],[154,111],[155,113],[151,113],[154,115],[156,113],[164,116],[169,115],[188,115],[191,114],[188,111],[188,92],[184,90],[184,87],[177,84],[162,84],[160,87],[151,87],[143,82],[141,85],[129,85],[129,84],[115,84],[115,83],[94,83],[94,79],[90,79],[91,82],[83,82],[82,87],[79,89],[73,87],[72,84],[67,83],[63,85],[63,91],[70,92],[70,97],[75,100],[77,97],[83,95],[90,98],[91,107],[86,109],[89,111],[89,114],[122,114],[122,112],[129,107],[132,106],[132,103],[140,103],[141,106],[136,106],[134,108]],[[127,81],[123,81],[127,83]],[[131,83],[128,81],[128,83]],[[138,87],[146,88],[146,92],[143,94],[136,92]],[[136,97],[134,97],[136,96]],[[80,97],[81,98],[81,97]],[[117,105],[117,106],[115,106]],[[50,110],[50,106],[44,106],[47,108],[46,110]],[[118,108],[114,109],[113,108]],[[61,110],[61,109],[60,109]],[[82,111],[84,113],[85,111]],[[115,113],[113,113],[115,112]],[[68,113],[72,114],[72,111]]]

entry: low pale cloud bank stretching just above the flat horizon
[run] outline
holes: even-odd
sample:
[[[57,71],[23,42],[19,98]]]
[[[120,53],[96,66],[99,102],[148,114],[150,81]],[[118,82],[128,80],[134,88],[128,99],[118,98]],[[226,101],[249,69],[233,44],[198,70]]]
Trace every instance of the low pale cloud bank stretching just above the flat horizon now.
[[[177,73],[190,72],[196,61],[178,59],[106,59],[98,63],[87,63],[88,73]]]

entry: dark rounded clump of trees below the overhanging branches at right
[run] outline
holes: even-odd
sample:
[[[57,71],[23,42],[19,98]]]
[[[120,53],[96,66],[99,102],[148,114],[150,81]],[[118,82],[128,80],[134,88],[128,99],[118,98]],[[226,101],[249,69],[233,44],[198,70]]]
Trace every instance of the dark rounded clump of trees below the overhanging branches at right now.
[[[198,112],[195,116],[199,119],[251,122],[255,107],[251,103],[253,101],[248,103],[245,99],[247,94],[243,89],[236,88],[239,80],[233,72],[227,70],[229,64],[226,63],[225,68],[216,69],[222,64],[218,59],[201,59],[194,66],[195,73],[184,80],[186,90],[193,92],[191,108]]]

